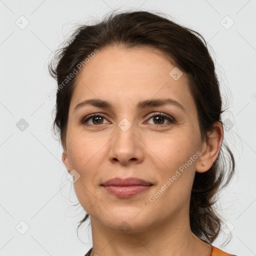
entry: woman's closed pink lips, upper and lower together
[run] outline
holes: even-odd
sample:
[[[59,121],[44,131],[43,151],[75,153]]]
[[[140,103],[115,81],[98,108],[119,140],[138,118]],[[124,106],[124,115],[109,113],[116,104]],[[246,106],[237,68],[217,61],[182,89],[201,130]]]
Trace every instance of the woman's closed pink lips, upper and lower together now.
[[[117,197],[131,197],[149,189],[153,184],[140,178],[111,178],[102,184],[104,189]]]

